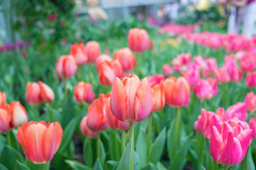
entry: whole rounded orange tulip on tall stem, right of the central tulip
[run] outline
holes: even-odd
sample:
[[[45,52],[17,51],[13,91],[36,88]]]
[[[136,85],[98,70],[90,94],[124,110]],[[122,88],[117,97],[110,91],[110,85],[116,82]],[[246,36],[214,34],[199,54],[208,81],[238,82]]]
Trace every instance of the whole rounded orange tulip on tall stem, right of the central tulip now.
[[[184,77],[169,77],[164,81],[166,104],[173,107],[186,107],[190,102],[191,90]]]

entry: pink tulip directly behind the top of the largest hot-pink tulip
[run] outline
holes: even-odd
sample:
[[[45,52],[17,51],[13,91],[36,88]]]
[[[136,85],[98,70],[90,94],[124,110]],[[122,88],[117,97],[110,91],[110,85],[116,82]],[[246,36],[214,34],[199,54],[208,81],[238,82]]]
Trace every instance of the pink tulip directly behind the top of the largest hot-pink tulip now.
[[[230,120],[233,118],[238,118],[239,120],[245,120],[247,118],[247,113],[245,112],[246,104],[242,102],[235,103],[235,105],[230,106],[225,112],[225,120]]]

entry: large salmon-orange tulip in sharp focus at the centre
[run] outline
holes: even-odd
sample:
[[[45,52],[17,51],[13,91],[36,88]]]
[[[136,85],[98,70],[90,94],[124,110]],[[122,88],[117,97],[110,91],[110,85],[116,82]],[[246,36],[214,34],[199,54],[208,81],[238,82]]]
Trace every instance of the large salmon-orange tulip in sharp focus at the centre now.
[[[148,78],[142,81],[136,75],[129,75],[122,81],[114,78],[110,108],[118,120],[125,123],[144,120],[151,113],[151,102]]]

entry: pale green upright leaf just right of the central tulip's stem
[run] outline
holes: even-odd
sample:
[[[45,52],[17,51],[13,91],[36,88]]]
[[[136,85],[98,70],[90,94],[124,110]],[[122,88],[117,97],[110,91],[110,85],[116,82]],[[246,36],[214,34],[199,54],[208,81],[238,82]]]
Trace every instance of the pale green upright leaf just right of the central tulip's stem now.
[[[139,168],[146,165],[146,133],[143,130],[139,130],[139,136],[135,145],[136,151],[139,157]]]

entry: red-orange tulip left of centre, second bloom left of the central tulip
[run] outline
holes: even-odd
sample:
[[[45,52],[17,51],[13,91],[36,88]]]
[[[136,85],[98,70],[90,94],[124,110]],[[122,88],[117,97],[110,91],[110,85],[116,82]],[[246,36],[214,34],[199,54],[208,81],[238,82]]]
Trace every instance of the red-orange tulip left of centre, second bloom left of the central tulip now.
[[[100,132],[110,128],[106,118],[106,107],[110,94],[100,94],[100,98],[92,101],[88,108],[87,125],[93,132]]]

